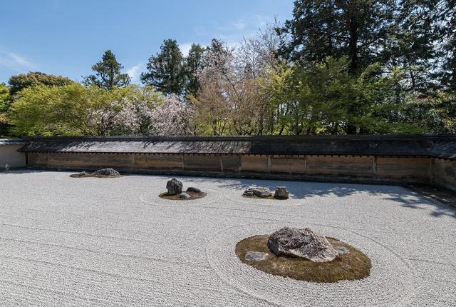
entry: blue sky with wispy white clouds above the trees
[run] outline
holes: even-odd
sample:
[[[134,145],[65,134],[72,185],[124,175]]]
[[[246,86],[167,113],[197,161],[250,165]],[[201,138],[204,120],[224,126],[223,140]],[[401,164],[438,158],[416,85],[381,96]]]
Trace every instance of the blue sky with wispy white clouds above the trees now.
[[[0,0],[0,83],[42,71],[81,81],[111,49],[138,83],[164,39],[182,51],[215,37],[235,44],[274,16],[291,18],[293,0]]]

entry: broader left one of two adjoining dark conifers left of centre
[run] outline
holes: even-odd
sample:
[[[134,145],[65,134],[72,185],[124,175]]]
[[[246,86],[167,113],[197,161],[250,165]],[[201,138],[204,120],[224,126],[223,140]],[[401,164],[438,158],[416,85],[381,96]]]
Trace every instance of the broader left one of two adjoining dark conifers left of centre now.
[[[177,41],[163,41],[160,52],[150,57],[146,67],[147,72],[140,77],[143,84],[154,86],[164,94],[183,94],[185,69]]]

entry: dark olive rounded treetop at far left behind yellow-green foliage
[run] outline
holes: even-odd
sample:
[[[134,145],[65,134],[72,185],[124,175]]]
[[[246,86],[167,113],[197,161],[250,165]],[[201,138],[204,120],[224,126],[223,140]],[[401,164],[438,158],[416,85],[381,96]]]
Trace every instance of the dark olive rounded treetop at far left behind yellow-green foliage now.
[[[72,84],[74,81],[63,77],[63,76],[54,76],[43,74],[41,72],[29,72],[28,74],[19,74],[16,76],[11,76],[9,79],[9,92],[11,96],[16,95],[22,89],[33,86],[64,86]]]

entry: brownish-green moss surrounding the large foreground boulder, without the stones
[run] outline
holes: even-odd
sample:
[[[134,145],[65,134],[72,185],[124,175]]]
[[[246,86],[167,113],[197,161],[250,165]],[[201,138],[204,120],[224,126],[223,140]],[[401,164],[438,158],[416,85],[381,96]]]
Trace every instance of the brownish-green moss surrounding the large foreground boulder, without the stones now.
[[[269,251],[267,241],[269,235],[251,236],[239,241],[236,254],[243,263],[253,266],[260,271],[317,283],[335,283],[337,281],[354,281],[366,278],[371,274],[371,259],[347,243],[326,237],[333,246],[348,248],[348,253],[336,257],[333,261],[317,263],[304,258],[276,256]],[[245,261],[247,251],[268,253],[264,261]]]

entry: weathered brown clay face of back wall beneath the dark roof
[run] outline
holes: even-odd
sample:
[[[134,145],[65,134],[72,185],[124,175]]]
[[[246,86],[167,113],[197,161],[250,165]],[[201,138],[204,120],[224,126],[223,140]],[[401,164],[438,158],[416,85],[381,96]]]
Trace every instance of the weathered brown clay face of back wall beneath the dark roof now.
[[[28,166],[59,169],[113,167],[123,171],[155,173],[248,173],[259,177],[280,174],[295,178],[372,178],[398,181],[427,181],[430,174],[429,158],[374,156],[29,153]],[[450,181],[450,178],[446,180]]]

